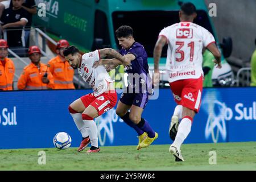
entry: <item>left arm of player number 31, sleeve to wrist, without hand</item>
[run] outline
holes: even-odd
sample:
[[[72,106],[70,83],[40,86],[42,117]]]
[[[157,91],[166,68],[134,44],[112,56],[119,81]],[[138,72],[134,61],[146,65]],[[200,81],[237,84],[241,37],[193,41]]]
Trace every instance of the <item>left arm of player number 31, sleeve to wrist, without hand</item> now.
[[[168,40],[165,36],[159,36],[156,41],[154,48],[154,71],[155,73],[159,73],[159,61],[162,55],[163,47],[168,43]]]

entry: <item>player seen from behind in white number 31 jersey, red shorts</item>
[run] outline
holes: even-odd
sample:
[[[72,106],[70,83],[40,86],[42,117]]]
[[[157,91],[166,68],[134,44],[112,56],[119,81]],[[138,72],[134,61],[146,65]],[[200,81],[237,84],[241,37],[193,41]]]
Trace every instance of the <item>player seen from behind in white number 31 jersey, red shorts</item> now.
[[[174,143],[170,152],[176,161],[183,161],[180,146],[187,138],[193,117],[199,112],[203,89],[203,48],[213,53],[217,68],[221,68],[221,55],[215,45],[213,35],[198,24],[196,7],[184,3],[179,11],[180,23],[163,28],[154,49],[154,84],[159,81],[159,59],[164,45],[168,44],[166,69],[170,87],[177,106],[171,119],[170,137]],[[182,118],[182,119],[181,119]],[[181,122],[179,123],[179,119]],[[179,124],[179,126],[178,126]]]

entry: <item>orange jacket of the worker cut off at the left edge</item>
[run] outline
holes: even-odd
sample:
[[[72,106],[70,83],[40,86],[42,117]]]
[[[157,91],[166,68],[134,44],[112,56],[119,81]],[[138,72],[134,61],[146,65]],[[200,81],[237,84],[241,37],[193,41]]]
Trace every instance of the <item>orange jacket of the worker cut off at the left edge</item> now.
[[[0,61],[0,90],[13,90],[14,73],[15,67],[11,59],[6,57],[4,61]]]

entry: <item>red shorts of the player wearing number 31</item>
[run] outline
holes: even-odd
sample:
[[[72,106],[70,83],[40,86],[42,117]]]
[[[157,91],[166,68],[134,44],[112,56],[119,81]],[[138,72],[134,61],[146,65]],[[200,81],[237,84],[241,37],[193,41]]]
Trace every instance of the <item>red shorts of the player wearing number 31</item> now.
[[[203,76],[197,79],[177,80],[170,83],[174,100],[178,105],[199,112],[203,90]]]

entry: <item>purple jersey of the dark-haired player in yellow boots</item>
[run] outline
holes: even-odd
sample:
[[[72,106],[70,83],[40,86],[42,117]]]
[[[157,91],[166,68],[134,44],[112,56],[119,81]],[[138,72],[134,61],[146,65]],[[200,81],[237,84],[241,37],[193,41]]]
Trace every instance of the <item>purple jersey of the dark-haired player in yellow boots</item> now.
[[[134,42],[129,49],[121,49],[119,53],[121,55],[131,53],[135,56],[135,60],[131,61],[130,65],[125,66],[125,71],[129,74],[129,88],[139,88],[140,93],[145,93],[143,88],[148,91],[147,87],[151,83],[151,78],[148,75],[147,53],[142,44]],[[137,82],[138,79],[136,81],[134,78],[136,73],[139,75],[139,82]]]

